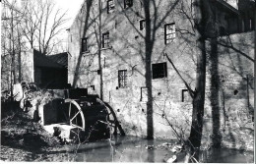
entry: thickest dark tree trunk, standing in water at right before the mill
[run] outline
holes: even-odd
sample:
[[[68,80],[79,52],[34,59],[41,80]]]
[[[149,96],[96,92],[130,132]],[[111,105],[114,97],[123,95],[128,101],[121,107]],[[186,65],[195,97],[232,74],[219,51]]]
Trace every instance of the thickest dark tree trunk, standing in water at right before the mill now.
[[[197,38],[197,69],[196,69],[196,86],[193,97],[192,125],[189,136],[188,156],[192,156],[197,161],[199,160],[199,150],[201,146],[203,117],[205,105],[205,85],[206,85],[206,45],[205,45],[205,25],[206,18],[204,14],[204,3],[208,0],[195,0],[193,3],[193,12],[195,15],[195,28]]]

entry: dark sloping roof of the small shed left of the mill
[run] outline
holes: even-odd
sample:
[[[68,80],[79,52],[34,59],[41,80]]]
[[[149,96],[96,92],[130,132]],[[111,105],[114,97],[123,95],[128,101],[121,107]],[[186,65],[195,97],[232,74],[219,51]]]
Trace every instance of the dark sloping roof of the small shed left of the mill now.
[[[41,54],[39,51],[33,49],[33,62],[34,67],[44,67],[44,68],[56,68],[62,69],[63,66],[50,60],[47,56]]]

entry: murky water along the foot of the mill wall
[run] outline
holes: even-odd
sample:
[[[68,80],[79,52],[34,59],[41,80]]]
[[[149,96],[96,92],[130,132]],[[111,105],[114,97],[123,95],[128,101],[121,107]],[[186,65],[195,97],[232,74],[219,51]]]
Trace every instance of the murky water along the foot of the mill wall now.
[[[117,137],[81,144],[77,148],[77,162],[164,162],[176,155],[175,162],[182,163],[185,152],[178,154],[169,148],[160,146],[164,142],[175,143],[175,140],[147,140],[140,137]],[[74,153],[77,145],[65,145],[62,150]],[[55,151],[58,153],[58,151]],[[211,149],[200,155],[200,162],[209,163],[253,163],[253,152],[235,149]]]

